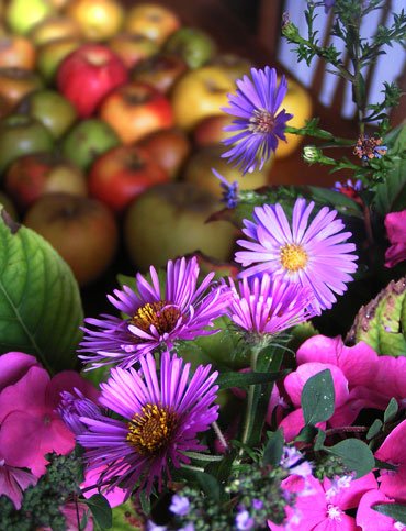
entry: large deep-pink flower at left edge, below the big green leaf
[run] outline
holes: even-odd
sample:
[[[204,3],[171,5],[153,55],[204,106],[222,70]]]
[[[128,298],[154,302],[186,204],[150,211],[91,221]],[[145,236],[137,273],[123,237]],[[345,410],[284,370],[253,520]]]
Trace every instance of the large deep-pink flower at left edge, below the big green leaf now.
[[[75,447],[74,433],[56,412],[60,391],[76,387],[94,399],[98,391],[74,370],[50,379],[33,356],[30,361],[25,354],[9,353],[1,356],[2,363],[4,356],[12,370],[0,392],[0,455],[7,465],[26,467],[40,477],[45,473],[45,454],[67,454]]]

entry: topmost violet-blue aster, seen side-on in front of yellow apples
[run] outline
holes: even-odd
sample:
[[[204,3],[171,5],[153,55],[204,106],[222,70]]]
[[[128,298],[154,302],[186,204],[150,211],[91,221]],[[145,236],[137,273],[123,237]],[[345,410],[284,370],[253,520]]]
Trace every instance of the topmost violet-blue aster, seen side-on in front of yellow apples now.
[[[287,91],[287,82],[284,76],[277,87],[277,71],[266,66],[264,70],[251,68],[252,81],[248,76],[237,80],[236,95],[228,95],[229,107],[222,110],[238,117],[233,120],[233,125],[227,125],[224,131],[235,131],[236,134],[223,140],[225,145],[233,147],[224,153],[223,157],[237,161],[244,174],[253,172],[257,164],[259,169],[269,159],[272,152],[278,147],[278,139],[284,140],[284,130],[287,120],[293,118],[281,107]]]

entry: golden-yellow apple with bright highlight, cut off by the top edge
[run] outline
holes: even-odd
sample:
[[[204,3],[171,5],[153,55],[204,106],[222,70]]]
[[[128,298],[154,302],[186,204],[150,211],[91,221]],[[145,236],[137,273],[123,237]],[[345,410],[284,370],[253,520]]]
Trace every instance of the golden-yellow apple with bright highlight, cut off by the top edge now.
[[[124,10],[115,0],[71,0],[67,14],[89,41],[106,41],[121,30]]]

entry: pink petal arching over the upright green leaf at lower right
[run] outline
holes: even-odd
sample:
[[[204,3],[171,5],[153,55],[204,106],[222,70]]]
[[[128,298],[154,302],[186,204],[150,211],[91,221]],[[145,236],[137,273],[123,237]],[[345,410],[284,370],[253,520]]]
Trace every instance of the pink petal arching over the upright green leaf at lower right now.
[[[305,383],[318,373],[329,369],[336,391],[336,408],[345,403],[349,396],[348,381],[341,369],[330,363],[305,363],[284,379],[284,387],[295,407],[301,406],[301,395]]]

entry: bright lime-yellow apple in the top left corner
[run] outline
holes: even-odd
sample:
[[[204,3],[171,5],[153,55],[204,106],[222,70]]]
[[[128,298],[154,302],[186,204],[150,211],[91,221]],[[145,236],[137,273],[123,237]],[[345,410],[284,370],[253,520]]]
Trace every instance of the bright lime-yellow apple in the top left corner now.
[[[24,34],[53,11],[54,7],[47,0],[10,0],[5,21],[13,32]]]

